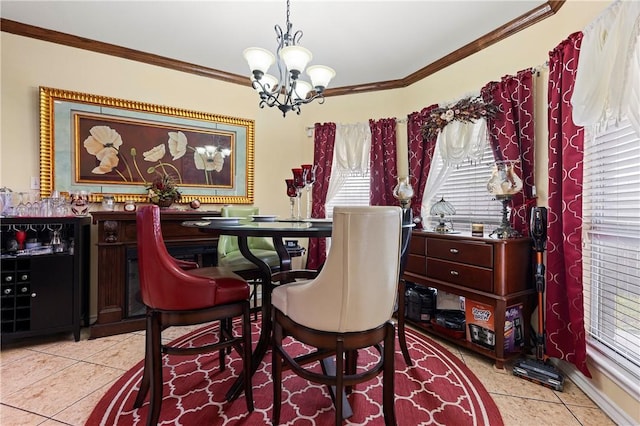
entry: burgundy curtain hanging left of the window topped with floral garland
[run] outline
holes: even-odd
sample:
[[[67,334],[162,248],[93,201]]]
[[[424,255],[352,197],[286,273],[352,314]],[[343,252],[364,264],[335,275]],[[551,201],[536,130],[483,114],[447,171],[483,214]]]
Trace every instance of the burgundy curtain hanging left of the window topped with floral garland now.
[[[437,108],[433,104],[423,108],[419,112],[412,112],[407,117],[407,140],[409,144],[409,176],[415,195],[411,199],[411,210],[413,217],[420,217],[422,206],[422,196],[427,185],[427,176],[431,169],[431,160],[436,147],[436,139],[426,140],[423,136],[422,126],[429,118],[432,110]],[[420,225],[421,226],[421,225]]]

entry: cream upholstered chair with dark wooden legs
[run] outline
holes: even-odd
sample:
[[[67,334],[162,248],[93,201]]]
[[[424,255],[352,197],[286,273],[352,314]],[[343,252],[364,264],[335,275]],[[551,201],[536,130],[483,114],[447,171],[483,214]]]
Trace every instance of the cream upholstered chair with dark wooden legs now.
[[[385,423],[395,424],[391,316],[398,286],[401,215],[399,207],[336,207],[331,249],[317,277],[273,290],[273,424],[280,420],[283,366],[312,382],[335,386],[336,424],[342,423],[345,388],[349,391],[383,371]],[[317,356],[294,359],[282,345],[286,336],[316,348]],[[380,361],[357,366],[357,350],[371,346],[380,353]],[[335,375],[305,368],[309,359],[330,354],[335,354]]]

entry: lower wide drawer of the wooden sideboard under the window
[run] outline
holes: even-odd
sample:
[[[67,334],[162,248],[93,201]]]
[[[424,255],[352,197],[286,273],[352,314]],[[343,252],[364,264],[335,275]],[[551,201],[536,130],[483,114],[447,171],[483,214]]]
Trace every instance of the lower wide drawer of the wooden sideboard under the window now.
[[[480,291],[493,291],[493,271],[477,266],[428,257],[427,277]]]

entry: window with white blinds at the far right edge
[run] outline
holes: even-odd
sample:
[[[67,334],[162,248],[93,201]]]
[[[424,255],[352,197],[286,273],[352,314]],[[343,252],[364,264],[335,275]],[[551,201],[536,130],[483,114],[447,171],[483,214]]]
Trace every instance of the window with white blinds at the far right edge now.
[[[585,137],[583,173],[588,344],[640,378],[640,137],[627,120]]]

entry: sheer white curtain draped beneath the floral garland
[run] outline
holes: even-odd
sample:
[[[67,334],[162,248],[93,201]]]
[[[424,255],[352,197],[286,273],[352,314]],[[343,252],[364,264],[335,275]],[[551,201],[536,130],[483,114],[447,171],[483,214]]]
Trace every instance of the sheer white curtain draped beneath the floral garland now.
[[[442,129],[436,141],[434,158],[431,160],[431,170],[422,197],[422,218],[427,226],[430,225],[429,210],[433,198],[451,172],[463,161],[479,161],[486,145],[487,121],[484,118],[474,123],[452,121]]]

